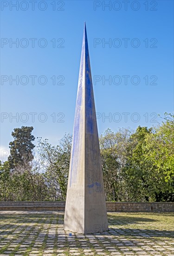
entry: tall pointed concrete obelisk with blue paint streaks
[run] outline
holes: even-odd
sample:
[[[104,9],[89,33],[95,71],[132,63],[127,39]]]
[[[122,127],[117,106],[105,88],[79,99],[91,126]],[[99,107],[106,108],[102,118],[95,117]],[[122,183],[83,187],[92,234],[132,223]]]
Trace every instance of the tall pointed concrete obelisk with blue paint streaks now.
[[[83,234],[97,233],[108,229],[85,24],[64,229]]]

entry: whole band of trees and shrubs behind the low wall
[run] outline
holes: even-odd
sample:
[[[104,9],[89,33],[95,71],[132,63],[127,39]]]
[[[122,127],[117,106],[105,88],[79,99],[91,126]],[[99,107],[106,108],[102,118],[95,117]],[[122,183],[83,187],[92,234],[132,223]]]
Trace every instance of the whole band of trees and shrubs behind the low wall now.
[[[65,200],[72,135],[57,146],[38,138],[32,154],[32,127],[15,128],[8,161],[0,162],[1,201]],[[107,129],[99,137],[107,201],[174,202],[174,115],[136,131]]]

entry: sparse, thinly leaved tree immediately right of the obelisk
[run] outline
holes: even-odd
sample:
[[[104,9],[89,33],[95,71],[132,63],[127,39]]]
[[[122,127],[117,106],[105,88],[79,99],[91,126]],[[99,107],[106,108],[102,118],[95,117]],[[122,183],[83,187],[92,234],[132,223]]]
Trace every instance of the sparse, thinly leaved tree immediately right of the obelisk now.
[[[127,198],[123,170],[131,134],[130,128],[119,129],[116,133],[107,129],[99,138],[104,189],[108,201],[125,201]]]

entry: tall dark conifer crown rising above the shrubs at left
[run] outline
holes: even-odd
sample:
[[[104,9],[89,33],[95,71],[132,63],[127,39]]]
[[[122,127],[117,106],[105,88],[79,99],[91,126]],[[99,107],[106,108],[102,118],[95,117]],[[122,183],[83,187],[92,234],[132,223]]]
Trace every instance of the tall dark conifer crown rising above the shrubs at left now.
[[[17,165],[27,167],[33,159],[32,149],[35,147],[32,141],[35,140],[32,135],[33,127],[22,126],[14,128],[12,136],[13,141],[9,143],[10,155],[8,162],[11,169]]]

